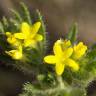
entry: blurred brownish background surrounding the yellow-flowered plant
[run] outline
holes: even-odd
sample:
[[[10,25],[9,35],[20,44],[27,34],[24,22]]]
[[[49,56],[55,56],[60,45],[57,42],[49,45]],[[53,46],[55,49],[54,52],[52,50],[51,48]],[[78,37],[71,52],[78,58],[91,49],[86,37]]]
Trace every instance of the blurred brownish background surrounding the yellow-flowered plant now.
[[[20,10],[19,2],[22,1],[31,12],[35,9],[41,11],[51,44],[64,37],[74,22],[79,26],[79,40],[89,46],[95,43],[96,0],[0,0],[0,18],[10,17],[10,8]],[[21,92],[22,84],[31,80],[32,77],[0,64],[0,96],[16,96]],[[88,87],[89,96],[96,96],[95,83]]]

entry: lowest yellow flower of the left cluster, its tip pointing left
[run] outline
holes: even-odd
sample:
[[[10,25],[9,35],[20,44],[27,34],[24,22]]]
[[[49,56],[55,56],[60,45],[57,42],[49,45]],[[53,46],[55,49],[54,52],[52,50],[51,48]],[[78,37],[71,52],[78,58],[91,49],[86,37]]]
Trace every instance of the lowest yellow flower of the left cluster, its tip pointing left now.
[[[19,46],[17,50],[5,51],[13,59],[20,60],[22,59],[22,46]]]

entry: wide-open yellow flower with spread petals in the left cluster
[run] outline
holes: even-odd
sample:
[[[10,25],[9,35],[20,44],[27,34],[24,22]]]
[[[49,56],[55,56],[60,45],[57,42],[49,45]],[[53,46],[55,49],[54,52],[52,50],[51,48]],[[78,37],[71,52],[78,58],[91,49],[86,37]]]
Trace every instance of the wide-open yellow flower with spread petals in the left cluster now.
[[[32,26],[30,26],[27,22],[23,22],[21,24],[21,32],[15,33],[14,36],[17,39],[24,40],[24,46],[35,46],[38,41],[43,39],[43,36],[37,34],[39,28],[41,26],[41,22],[36,22]]]

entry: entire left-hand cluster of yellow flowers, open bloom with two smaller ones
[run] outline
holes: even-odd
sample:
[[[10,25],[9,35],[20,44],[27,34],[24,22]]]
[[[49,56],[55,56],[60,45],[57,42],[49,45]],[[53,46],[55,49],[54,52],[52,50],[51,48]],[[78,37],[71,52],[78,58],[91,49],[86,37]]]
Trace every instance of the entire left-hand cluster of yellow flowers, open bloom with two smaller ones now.
[[[20,32],[6,32],[7,42],[15,48],[15,50],[5,51],[13,59],[20,60],[23,57],[23,47],[36,47],[38,41],[43,39],[43,36],[38,34],[41,22],[36,22],[30,26],[27,22],[21,24]]]

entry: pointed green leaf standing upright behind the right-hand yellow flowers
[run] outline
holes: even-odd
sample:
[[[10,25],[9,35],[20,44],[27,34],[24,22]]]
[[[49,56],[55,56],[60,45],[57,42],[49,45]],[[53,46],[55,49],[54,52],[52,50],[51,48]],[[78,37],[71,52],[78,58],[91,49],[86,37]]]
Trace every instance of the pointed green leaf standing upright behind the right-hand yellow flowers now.
[[[77,39],[77,33],[78,33],[78,27],[77,23],[74,23],[73,26],[71,27],[71,30],[68,32],[67,38],[74,43]]]

